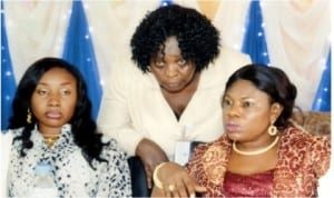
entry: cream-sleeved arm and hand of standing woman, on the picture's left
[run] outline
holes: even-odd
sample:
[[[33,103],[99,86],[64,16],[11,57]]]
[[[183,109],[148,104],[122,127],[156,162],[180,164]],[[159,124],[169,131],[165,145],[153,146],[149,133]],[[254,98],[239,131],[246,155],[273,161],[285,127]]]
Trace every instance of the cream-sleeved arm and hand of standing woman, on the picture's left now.
[[[131,68],[134,67],[134,68]],[[134,118],[130,113],[131,106],[139,105],[131,101],[131,90],[136,89],[135,66],[118,63],[111,70],[109,81],[105,88],[104,99],[100,108],[98,125],[102,132],[115,138],[120,147],[129,156],[139,156],[147,175],[148,188],[151,188],[151,175],[154,168],[168,161],[165,151],[154,141],[144,137],[144,132],[137,131],[132,127]],[[136,108],[134,108],[136,110]]]

